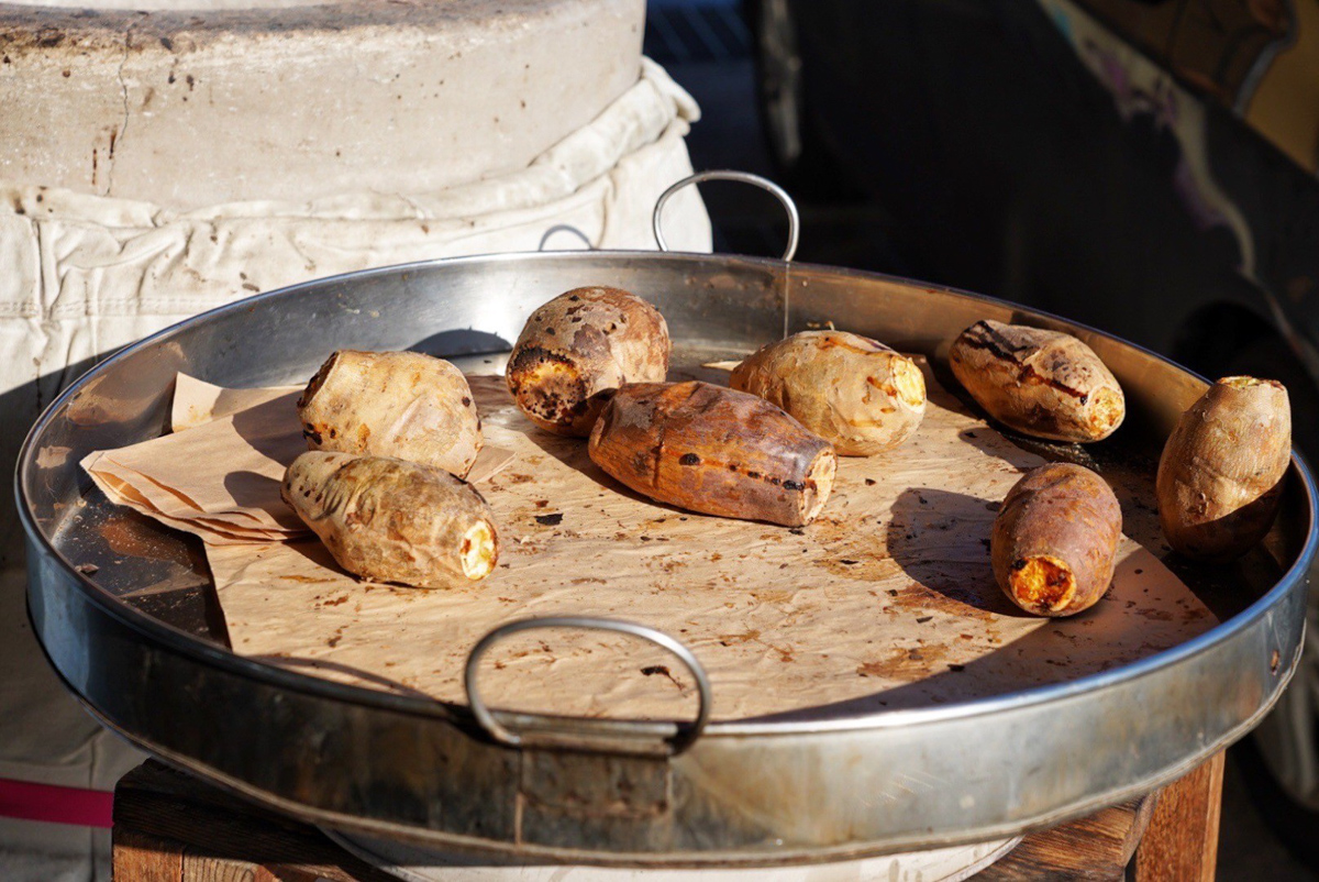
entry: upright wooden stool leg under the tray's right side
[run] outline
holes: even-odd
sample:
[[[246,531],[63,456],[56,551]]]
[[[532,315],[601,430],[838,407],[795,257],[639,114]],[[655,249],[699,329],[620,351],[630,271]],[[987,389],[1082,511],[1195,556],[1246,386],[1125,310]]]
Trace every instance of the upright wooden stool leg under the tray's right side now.
[[[1163,788],[1136,849],[1133,882],[1212,882],[1219,860],[1223,758],[1219,751]]]

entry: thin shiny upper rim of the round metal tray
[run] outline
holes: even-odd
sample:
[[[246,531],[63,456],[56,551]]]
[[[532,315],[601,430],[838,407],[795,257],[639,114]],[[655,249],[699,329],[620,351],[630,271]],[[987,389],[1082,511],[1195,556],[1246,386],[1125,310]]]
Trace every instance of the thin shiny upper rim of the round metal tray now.
[[[36,518],[32,512],[28,495],[24,489],[24,475],[32,471],[36,458],[37,441],[44,433],[44,429],[53,419],[57,409],[65,405],[74,395],[82,391],[90,382],[92,382],[103,371],[109,370],[117,362],[133,355],[144,349],[154,346],[156,343],[168,341],[171,335],[175,335],[191,326],[200,325],[214,317],[241,312],[249,309],[253,304],[265,302],[269,300],[277,300],[281,297],[297,296],[299,292],[307,288],[322,288],[334,283],[353,281],[359,279],[377,277],[377,276],[392,276],[392,275],[406,275],[412,271],[426,271],[434,267],[450,267],[462,264],[480,264],[480,263],[525,263],[537,260],[599,260],[605,259],[619,259],[619,260],[644,260],[644,261],[690,261],[699,260],[716,261],[723,264],[741,263],[749,267],[760,267],[769,272],[787,275],[793,268],[802,268],[809,271],[823,271],[840,276],[852,276],[860,279],[878,280],[892,284],[898,284],[904,287],[915,287],[931,293],[952,294],[956,297],[963,297],[971,301],[993,304],[995,306],[1008,308],[1014,312],[1022,313],[1031,320],[1049,320],[1055,321],[1062,325],[1083,330],[1088,334],[1096,337],[1103,337],[1113,341],[1121,346],[1130,347],[1149,358],[1163,362],[1177,370],[1195,378],[1196,380],[1208,383],[1199,374],[1178,364],[1177,362],[1159,355],[1144,346],[1125,341],[1115,334],[1091,327],[1082,322],[1071,321],[1053,313],[1024,306],[1020,304],[1013,304],[1010,301],[1000,300],[996,297],[989,297],[985,294],[979,294],[975,292],[968,292],[959,288],[952,288],[947,285],[939,285],[933,283],[925,283],[915,279],[907,279],[902,276],[893,276],[888,273],[878,273],[871,271],[852,269],[844,267],[834,267],[827,264],[810,264],[798,261],[783,261],[773,257],[752,257],[743,255],[723,255],[723,254],[704,254],[704,252],[656,252],[656,251],[613,251],[613,250],[599,250],[599,251],[537,251],[537,252],[500,252],[491,255],[468,255],[460,257],[437,257],[431,260],[421,260],[405,264],[396,264],[390,267],[379,267],[372,269],[363,269],[348,273],[339,273],[334,276],[326,276],[321,279],[302,281],[294,285],[288,285],[270,292],[262,292],[253,294],[251,297],[243,297],[235,300],[230,304],[216,306],[214,309],[199,313],[191,318],[183,320],[169,327],[165,327],[154,334],[150,334],[141,341],[127,346],[115,354],[109,355],[104,360],[99,362],[95,367],[88,370],[86,374],[79,376],[74,383],[65,388],[41,413],[33,426],[29,429],[22,446],[20,448],[16,471],[15,471],[15,496],[18,508],[18,519],[22,529],[28,533],[29,539],[42,547],[42,549],[53,559],[59,562],[65,570],[66,577],[75,580],[75,584],[82,590],[84,598],[92,601],[99,609],[111,614],[121,625],[129,627],[137,634],[141,634],[146,639],[156,639],[164,643],[165,648],[178,652],[181,655],[189,656],[203,664],[216,664],[223,667],[227,672],[244,676],[248,679],[261,680],[272,685],[281,688],[288,688],[295,692],[310,695],[319,698],[328,698],[331,701],[342,701],[355,705],[376,706],[381,709],[388,709],[394,713],[405,713],[417,717],[439,717],[447,718],[455,722],[470,722],[470,712],[467,705],[447,702],[439,700],[425,700],[414,696],[401,696],[393,695],[377,689],[369,689],[367,687],[336,683],[331,680],[324,680],[322,677],[315,677],[306,673],[299,673],[288,668],[281,668],[278,665],[257,662],[247,656],[239,655],[232,650],[226,650],[219,646],[210,644],[207,642],[199,640],[190,635],[189,632],[162,622],[154,617],[146,615],[145,613],[137,613],[132,610],[127,603],[117,601],[96,585],[95,580],[87,577],[84,573],[79,572],[55,547],[55,544],[45,535],[44,531],[36,524]],[[204,379],[204,378],[202,378]],[[78,467],[77,463],[73,467]],[[984,714],[1010,712],[1018,708],[1033,706],[1038,704],[1045,704],[1050,701],[1062,701],[1079,695],[1091,693],[1101,691],[1117,683],[1125,683],[1129,680],[1141,679],[1165,671],[1166,668],[1175,665],[1186,659],[1194,658],[1202,652],[1211,650],[1216,646],[1227,634],[1239,630],[1245,630],[1252,623],[1265,617],[1278,602],[1290,593],[1291,586],[1297,580],[1304,578],[1304,572],[1310,568],[1316,548],[1319,548],[1319,490],[1316,490],[1314,475],[1306,463],[1304,458],[1295,450],[1291,456],[1291,471],[1295,479],[1299,481],[1299,487],[1303,491],[1303,499],[1306,503],[1306,510],[1310,516],[1310,524],[1306,535],[1306,540],[1297,555],[1297,560],[1278,577],[1277,582],[1270,588],[1262,597],[1256,599],[1250,606],[1241,610],[1236,615],[1228,618],[1227,621],[1219,622],[1212,628],[1206,632],[1191,638],[1190,640],[1181,643],[1175,647],[1162,650],[1150,656],[1146,656],[1138,662],[1124,664],[1109,671],[1089,673],[1075,680],[1067,680],[1055,684],[1047,684],[1041,687],[1031,687],[1029,689],[1021,689],[1017,692],[1008,692],[997,696],[987,696],[980,698],[972,698],[969,701],[955,701],[931,708],[905,708],[896,710],[878,710],[865,714],[857,714],[852,717],[831,717],[828,720],[820,721],[807,721],[807,720],[794,720],[794,721],[776,721],[776,720],[727,720],[727,721],[711,721],[700,737],[700,741],[715,739],[720,737],[769,737],[769,735],[806,735],[806,734],[828,734],[839,731],[856,731],[856,730],[869,730],[869,729],[889,729],[896,726],[910,726],[922,722],[933,721],[947,721],[947,720],[962,720]],[[40,635],[40,631],[37,631]],[[1295,667],[1295,659],[1289,660],[1286,676],[1290,677]],[[553,721],[576,721],[579,717],[559,717],[555,714],[518,714],[512,712],[501,712],[510,717],[534,718],[543,720],[547,722]],[[1261,710],[1262,713],[1262,710]],[[1253,718],[1253,717],[1252,717]],[[605,724],[607,721],[591,721],[592,725]],[[644,726],[653,731],[665,731],[673,728],[673,722],[667,721],[650,721],[638,722],[629,720],[617,720],[616,722],[629,726],[632,730],[637,730],[638,726]]]

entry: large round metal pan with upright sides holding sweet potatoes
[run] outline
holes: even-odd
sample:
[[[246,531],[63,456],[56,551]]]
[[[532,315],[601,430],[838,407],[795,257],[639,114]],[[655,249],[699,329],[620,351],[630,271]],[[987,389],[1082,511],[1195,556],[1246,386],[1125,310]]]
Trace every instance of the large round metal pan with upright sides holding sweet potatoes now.
[[[124,350],[33,428],[17,495],[30,615],[51,664],[137,745],[299,819],[524,861],[662,866],[824,861],[1057,824],[1186,772],[1248,731],[1287,683],[1315,549],[1315,487],[1299,459],[1262,548],[1212,570],[1167,561],[1223,623],[1137,664],[934,708],[711,722],[702,733],[485,714],[520,746],[496,741],[464,706],[235,655],[198,545],[111,512],[78,467],[91,450],[160,434],[178,371],[230,387],[302,382],[342,347],[497,366],[536,306],[601,283],[644,292],[687,363],[824,321],[925,353],[936,370],[947,343],[981,318],[1070,330],[1128,395],[1121,432],[1087,452],[1146,483],[1204,388],[1148,351],[1042,313],[780,260],[501,255],[309,283]]]

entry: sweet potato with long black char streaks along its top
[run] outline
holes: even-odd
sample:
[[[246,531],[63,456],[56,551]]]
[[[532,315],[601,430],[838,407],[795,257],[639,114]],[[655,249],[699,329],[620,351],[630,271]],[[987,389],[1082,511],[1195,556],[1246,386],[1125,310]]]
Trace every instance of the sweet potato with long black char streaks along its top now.
[[[1117,379],[1070,334],[980,321],[948,363],[971,397],[1009,429],[1053,441],[1101,441],[1126,416]]]

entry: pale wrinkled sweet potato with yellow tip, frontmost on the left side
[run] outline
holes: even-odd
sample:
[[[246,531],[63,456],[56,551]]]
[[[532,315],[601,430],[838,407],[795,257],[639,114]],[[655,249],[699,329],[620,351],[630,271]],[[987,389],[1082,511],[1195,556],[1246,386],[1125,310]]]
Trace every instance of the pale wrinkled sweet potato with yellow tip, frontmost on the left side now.
[[[280,495],[363,578],[454,588],[485,578],[499,560],[485,500],[442,469],[317,450],[293,461]]]

